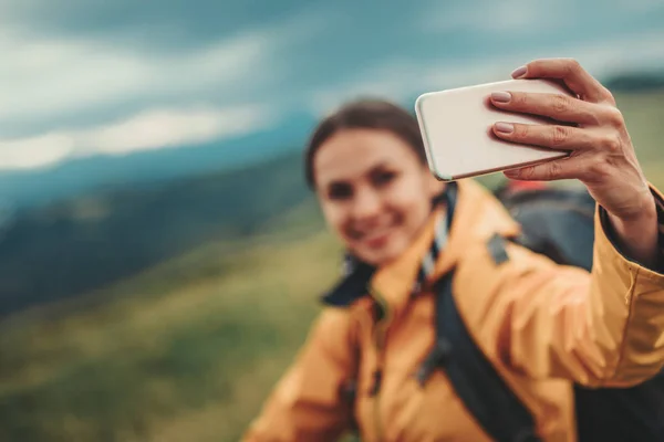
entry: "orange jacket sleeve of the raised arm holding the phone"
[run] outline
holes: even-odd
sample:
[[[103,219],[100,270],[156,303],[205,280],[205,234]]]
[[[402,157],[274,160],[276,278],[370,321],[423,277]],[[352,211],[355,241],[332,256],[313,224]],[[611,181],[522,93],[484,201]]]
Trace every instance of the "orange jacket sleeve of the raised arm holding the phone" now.
[[[664,202],[653,193],[664,232]],[[459,311],[488,356],[525,376],[590,387],[626,387],[656,375],[664,367],[664,274],[630,261],[610,235],[600,208],[590,274],[516,245],[507,263],[485,250],[460,267],[463,292],[473,295],[459,297]],[[496,272],[474,278],[479,265]]]

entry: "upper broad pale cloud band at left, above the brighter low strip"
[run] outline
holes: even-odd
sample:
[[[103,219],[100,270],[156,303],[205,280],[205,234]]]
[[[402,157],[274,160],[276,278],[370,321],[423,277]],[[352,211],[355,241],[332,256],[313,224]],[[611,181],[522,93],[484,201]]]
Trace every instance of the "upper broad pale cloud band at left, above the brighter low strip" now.
[[[193,54],[152,57],[94,41],[1,39],[0,124],[232,87],[260,76],[273,44],[267,35],[247,33]]]

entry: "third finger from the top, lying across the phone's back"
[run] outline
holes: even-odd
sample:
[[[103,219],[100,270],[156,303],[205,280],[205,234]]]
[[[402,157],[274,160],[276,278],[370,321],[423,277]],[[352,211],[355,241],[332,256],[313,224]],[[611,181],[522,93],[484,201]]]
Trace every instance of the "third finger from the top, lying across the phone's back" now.
[[[499,122],[492,129],[497,137],[522,145],[558,150],[588,150],[599,147],[599,140],[593,133],[578,127]]]

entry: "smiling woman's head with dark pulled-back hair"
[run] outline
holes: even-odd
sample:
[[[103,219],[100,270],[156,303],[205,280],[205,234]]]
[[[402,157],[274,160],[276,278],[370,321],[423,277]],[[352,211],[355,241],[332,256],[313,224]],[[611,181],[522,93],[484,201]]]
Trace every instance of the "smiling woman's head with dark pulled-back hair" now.
[[[328,222],[353,254],[375,265],[405,251],[443,190],[428,173],[415,122],[383,102],[352,104],[325,120],[305,167]]]

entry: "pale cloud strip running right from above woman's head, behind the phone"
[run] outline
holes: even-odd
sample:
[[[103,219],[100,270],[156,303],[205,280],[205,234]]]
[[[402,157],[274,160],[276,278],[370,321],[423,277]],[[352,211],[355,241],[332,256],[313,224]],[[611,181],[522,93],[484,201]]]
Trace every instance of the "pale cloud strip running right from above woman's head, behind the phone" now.
[[[356,77],[308,95],[307,106],[324,114],[362,95],[403,102],[416,95],[471,84],[509,80],[512,70],[540,57],[574,57],[600,81],[626,71],[664,69],[664,31],[623,35],[581,45],[551,45],[505,51],[485,57],[457,57],[445,63],[397,59],[377,64]]]

